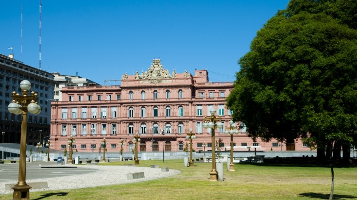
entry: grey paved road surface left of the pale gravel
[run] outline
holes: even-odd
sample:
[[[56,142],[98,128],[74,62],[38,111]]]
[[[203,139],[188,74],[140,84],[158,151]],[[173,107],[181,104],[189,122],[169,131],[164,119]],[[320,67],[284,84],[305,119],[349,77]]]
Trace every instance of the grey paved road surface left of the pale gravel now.
[[[41,168],[56,167],[56,168]],[[19,163],[0,164],[0,183],[5,181],[18,180]],[[60,168],[66,167],[66,168]],[[72,165],[57,165],[57,162],[34,162],[26,163],[26,180],[38,178],[53,178],[67,175],[85,174],[97,171],[91,168],[77,168]]]

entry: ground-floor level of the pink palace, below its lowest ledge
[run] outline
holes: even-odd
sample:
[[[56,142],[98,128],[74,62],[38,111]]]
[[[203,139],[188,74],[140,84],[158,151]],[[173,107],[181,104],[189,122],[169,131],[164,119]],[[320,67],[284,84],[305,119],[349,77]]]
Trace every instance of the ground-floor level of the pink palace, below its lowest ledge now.
[[[68,138],[72,136],[75,143],[72,144],[73,151],[79,152],[99,152],[104,145],[102,140],[107,141],[106,152],[119,152],[121,148],[124,152],[133,151],[135,147],[134,134],[87,134],[87,135],[51,135],[51,149],[68,150]],[[155,152],[155,151],[189,151],[190,140],[186,139],[186,133],[154,133],[139,134],[138,151]],[[192,139],[192,149],[196,152],[212,150],[211,133],[196,134],[197,138]],[[220,150],[230,150],[230,134],[216,133],[216,146],[220,143]],[[122,142],[121,142],[122,141]],[[122,145],[121,145],[122,143]],[[277,150],[310,150],[301,140],[295,143],[286,144],[272,140],[262,142],[257,139],[253,141],[246,134],[233,134],[234,151],[277,151]]]

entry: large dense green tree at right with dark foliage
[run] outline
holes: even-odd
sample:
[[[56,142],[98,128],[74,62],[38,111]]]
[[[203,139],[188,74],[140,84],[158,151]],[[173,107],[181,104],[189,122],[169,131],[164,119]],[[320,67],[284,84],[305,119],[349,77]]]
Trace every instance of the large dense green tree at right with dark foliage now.
[[[356,141],[356,4],[291,0],[257,32],[227,98],[254,140],[305,137],[320,158]]]

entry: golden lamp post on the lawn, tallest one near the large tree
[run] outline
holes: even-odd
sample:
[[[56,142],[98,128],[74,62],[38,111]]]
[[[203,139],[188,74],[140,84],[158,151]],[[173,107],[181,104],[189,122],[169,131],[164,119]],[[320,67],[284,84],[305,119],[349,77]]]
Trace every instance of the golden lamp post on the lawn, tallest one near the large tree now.
[[[204,117],[204,124],[203,127],[205,129],[209,128],[212,131],[212,170],[210,174],[210,181],[217,181],[218,173],[216,170],[216,147],[215,147],[215,129],[222,128],[223,123],[221,122],[221,117],[216,117],[216,110],[211,108],[209,110],[211,116]]]

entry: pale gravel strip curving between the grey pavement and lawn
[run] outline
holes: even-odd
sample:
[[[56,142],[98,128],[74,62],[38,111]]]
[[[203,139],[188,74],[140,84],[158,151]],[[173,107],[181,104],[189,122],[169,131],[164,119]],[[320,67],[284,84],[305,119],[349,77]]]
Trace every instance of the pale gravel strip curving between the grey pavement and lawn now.
[[[74,176],[63,176],[47,179],[29,179],[26,183],[31,182],[47,182],[48,188],[43,189],[31,189],[30,192],[41,191],[41,190],[59,190],[59,189],[73,189],[73,188],[83,188],[83,187],[95,187],[101,185],[113,185],[122,183],[135,183],[141,181],[148,181],[153,179],[159,179],[167,176],[173,176],[181,173],[179,170],[169,169],[168,172],[162,172],[161,168],[150,168],[150,167],[124,167],[124,166],[78,166],[78,168],[93,168],[98,169],[98,171],[74,175]],[[145,178],[128,180],[128,173],[144,172]],[[5,190],[5,183],[17,183],[17,181],[12,182],[2,182],[0,186],[0,194],[13,193],[13,190]]]

